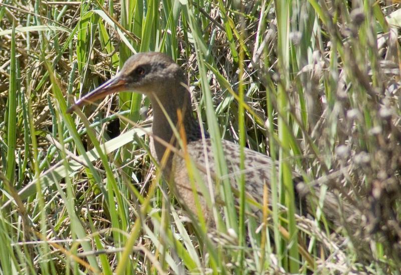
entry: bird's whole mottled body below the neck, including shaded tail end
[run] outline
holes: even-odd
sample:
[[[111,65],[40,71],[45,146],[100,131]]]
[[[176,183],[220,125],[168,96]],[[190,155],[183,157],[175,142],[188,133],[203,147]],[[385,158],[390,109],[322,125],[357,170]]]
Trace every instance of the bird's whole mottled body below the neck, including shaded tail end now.
[[[250,196],[251,199],[255,200],[259,204],[263,204],[263,193],[264,186],[268,188],[268,202],[271,204],[271,177],[273,172],[276,172],[278,175],[278,165],[273,162],[273,160],[261,153],[250,150],[248,148],[244,148],[245,160],[244,167],[245,169],[240,171],[240,146],[232,143],[227,140],[222,140],[222,149],[224,153],[224,157],[227,163],[228,174],[223,176],[223,178],[228,178],[233,191],[239,190],[239,182],[241,173],[245,176],[245,191],[247,196]],[[210,209],[207,207],[206,199],[203,197],[202,190],[206,188],[212,187],[212,192],[214,196],[219,192],[216,190],[216,174],[217,174],[217,163],[214,158],[213,150],[212,150],[212,141],[211,139],[198,140],[194,142],[190,142],[187,144],[186,148],[188,155],[193,160],[193,164],[195,164],[197,173],[193,174],[195,190],[197,191],[197,197],[202,207],[202,212],[205,215],[206,219],[210,217]],[[181,150],[181,153],[182,150]],[[275,169],[272,170],[272,169]],[[173,179],[175,185],[175,192],[178,192],[179,199],[181,203],[185,204],[193,213],[197,213],[197,208],[195,204],[194,193],[192,191],[192,183],[188,177],[188,164],[186,164],[185,160],[182,156],[175,155],[173,157]],[[296,199],[296,206],[299,207],[302,205],[302,212],[298,212],[300,214],[310,213],[313,216],[313,211],[316,210],[316,205],[319,201],[319,193],[320,186],[313,186],[308,188],[308,190],[303,190],[303,194],[299,194],[299,188],[297,185],[300,181],[302,181],[302,177],[299,173],[292,172],[293,174],[293,182],[294,182],[294,193]],[[200,179],[198,177],[200,177]],[[276,179],[278,180],[278,179]],[[204,185],[204,188],[202,188]],[[209,192],[210,195],[211,192]],[[238,194],[235,194],[238,203]],[[216,199],[216,198],[215,198]],[[271,206],[271,205],[269,205]],[[261,213],[259,208],[253,208],[254,214],[259,215]],[[323,212],[328,220],[333,222],[336,226],[341,226],[343,221],[342,217],[339,216],[340,207],[338,205],[337,197],[331,193],[325,193],[325,199],[323,203]],[[348,225],[350,227],[357,226],[357,222],[355,222],[354,211],[352,207],[350,207],[345,202],[341,206],[341,211],[343,213],[344,218],[349,218],[350,222]]]

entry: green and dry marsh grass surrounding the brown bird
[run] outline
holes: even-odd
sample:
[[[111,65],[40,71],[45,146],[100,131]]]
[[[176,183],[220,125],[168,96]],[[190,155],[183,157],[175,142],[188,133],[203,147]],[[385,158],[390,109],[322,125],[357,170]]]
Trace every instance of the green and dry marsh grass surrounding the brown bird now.
[[[2,1],[0,272],[398,273],[401,13],[389,3]],[[186,217],[149,156],[147,98],[66,114],[140,51],[182,66],[211,136],[278,161],[264,217],[249,202],[218,229]],[[323,186],[307,218],[293,214],[291,170]],[[350,212],[327,222],[326,189],[358,227]]]

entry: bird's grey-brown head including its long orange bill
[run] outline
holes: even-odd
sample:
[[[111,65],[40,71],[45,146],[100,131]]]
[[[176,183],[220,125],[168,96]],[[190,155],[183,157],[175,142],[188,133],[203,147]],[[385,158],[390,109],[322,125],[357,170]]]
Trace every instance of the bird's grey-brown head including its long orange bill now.
[[[181,69],[167,55],[155,52],[138,53],[125,62],[115,77],[81,97],[68,109],[68,112],[121,91],[157,96],[159,93],[168,91],[168,87],[173,87],[182,81]]]

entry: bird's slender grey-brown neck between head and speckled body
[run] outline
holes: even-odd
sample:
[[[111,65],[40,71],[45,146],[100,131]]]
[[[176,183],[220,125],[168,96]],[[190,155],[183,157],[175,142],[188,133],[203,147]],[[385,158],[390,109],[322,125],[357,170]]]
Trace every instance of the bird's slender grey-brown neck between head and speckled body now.
[[[173,125],[178,133],[180,132],[180,127],[183,126],[187,143],[199,140],[202,134],[197,119],[192,115],[189,91],[181,83],[165,87],[163,90],[165,92],[158,93],[157,97],[155,95],[150,96],[153,108],[153,134],[176,147],[177,136],[171,126]],[[160,106],[160,104],[162,105]],[[180,117],[178,113],[181,113]],[[155,153],[160,161],[166,151],[166,147],[156,139],[153,139],[153,143]]]

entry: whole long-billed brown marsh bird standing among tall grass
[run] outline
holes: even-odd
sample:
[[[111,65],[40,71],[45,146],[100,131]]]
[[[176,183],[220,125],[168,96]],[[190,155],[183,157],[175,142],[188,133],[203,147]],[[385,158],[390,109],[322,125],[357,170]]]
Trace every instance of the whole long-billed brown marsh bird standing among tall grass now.
[[[218,172],[217,163],[213,154],[212,138],[193,115],[191,95],[186,82],[183,70],[167,55],[157,52],[137,53],[127,59],[115,77],[81,97],[68,112],[71,113],[76,108],[113,93],[131,91],[145,94],[150,99],[153,111],[150,139],[152,156],[159,164],[162,163],[162,174],[172,183],[169,186],[180,204],[196,214],[198,208],[195,202],[198,200],[205,220],[210,221],[212,212],[208,208],[207,198],[202,195],[205,192],[200,190],[202,188],[199,184],[195,185],[196,192],[193,192],[185,156],[189,156],[196,167],[200,168],[198,174],[200,180],[205,183],[211,178],[212,182],[216,182],[216,178],[213,177],[216,177]],[[184,133],[184,146],[174,133],[180,130]],[[270,187],[271,171],[278,171],[277,163],[265,154],[244,148],[246,169],[240,171],[240,146],[228,140],[222,140],[221,145],[227,162],[227,177],[232,188],[239,190],[239,175],[243,173],[247,196],[263,204],[264,186]],[[297,201],[301,200],[298,206],[305,205],[305,211],[312,213],[315,207],[311,204],[312,200],[308,198],[308,194],[319,192],[319,187],[314,186],[314,192],[301,195],[298,187],[302,183],[302,177],[293,171],[293,178],[295,196]],[[212,187],[215,188],[212,190],[214,194],[218,192],[216,185]],[[268,201],[271,202],[270,199]],[[327,192],[323,212],[327,219],[341,225],[338,209],[337,196]],[[348,207],[347,211],[352,212],[351,207]]]

